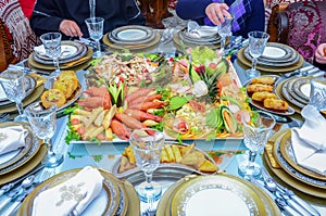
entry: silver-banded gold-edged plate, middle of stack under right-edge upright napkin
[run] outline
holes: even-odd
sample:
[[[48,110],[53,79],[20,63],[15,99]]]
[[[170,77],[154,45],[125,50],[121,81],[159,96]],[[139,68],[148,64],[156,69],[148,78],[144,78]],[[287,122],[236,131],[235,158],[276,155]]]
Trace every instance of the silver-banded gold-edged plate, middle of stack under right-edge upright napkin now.
[[[326,190],[326,181],[324,180],[319,180],[319,179],[315,179],[315,178],[311,178],[310,176],[300,173],[298,170],[296,170],[287,161],[286,158],[283,156],[281,152],[280,152],[280,143],[283,141],[283,139],[285,138],[285,136],[287,136],[288,134],[284,134],[281,136],[281,138],[276,141],[274,143],[274,148],[273,148],[273,155],[275,157],[275,160],[277,161],[277,163],[279,164],[279,166],[283,168],[283,170],[285,170],[288,175],[290,175],[291,177],[298,179],[299,181],[302,181],[309,186],[315,187],[315,188],[319,188],[319,189],[324,189]]]

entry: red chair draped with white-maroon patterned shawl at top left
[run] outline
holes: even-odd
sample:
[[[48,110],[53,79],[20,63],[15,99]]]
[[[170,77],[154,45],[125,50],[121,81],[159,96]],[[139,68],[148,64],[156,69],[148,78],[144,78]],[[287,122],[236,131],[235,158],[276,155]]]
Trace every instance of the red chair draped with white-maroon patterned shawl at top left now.
[[[0,1],[0,72],[33,52],[39,39],[29,26],[36,0]]]

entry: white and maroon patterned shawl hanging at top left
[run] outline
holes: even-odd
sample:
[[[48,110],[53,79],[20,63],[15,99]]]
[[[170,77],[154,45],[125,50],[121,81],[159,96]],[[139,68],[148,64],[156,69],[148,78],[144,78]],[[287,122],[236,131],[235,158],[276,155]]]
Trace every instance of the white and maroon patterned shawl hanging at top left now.
[[[18,60],[28,58],[38,38],[29,26],[29,21],[17,0],[0,0],[0,18],[12,37],[12,53]]]

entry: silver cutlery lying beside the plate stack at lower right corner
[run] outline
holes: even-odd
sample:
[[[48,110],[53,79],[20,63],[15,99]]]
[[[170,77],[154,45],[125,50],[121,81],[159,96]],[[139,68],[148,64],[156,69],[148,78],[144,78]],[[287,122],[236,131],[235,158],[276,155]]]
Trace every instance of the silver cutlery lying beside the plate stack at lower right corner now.
[[[265,182],[265,187],[269,190],[269,191],[279,191],[281,194],[287,195],[289,199],[291,199],[292,201],[294,201],[297,204],[299,204],[305,212],[310,213],[310,215],[314,215],[314,216],[321,216],[321,214],[318,213],[318,211],[316,211],[313,206],[311,206],[309,203],[306,203],[305,201],[303,201],[301,198],[299,198],[298,195],[296,195],[293,193],[293,191],[280,186],[278,182],[276,182],[272,176],[269,176],[269,174],[267,173],[267,170],[263,169],[262,171],[262,177],[264,179]]]

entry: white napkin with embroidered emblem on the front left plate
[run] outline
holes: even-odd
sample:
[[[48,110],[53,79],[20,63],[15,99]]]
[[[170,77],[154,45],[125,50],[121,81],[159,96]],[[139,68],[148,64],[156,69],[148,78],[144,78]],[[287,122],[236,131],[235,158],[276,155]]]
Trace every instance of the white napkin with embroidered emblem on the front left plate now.
[[[100,194],[103,177],[96,168],[87,166],[76,176],[39,193],[33,204],[33,215],[80,215]]]

